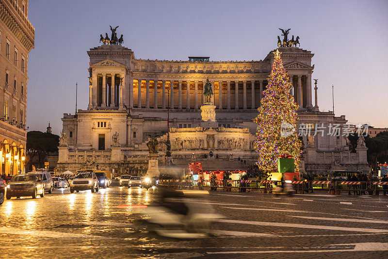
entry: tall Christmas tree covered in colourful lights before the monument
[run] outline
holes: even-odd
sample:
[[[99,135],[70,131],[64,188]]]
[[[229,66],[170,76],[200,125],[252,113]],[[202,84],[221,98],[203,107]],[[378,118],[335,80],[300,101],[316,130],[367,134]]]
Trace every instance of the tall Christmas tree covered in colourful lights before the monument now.
[[[264,172],[277,171],[280,156],[292,156],[295,172],[299,172],[301,141],[296,132],[298,104],[290,94],[292,84],[283,67],[281,52],[276,50],[267,89],[263,92],[259,115],[254,119],[258,125],[255,142],[259,153],[257,165]]]

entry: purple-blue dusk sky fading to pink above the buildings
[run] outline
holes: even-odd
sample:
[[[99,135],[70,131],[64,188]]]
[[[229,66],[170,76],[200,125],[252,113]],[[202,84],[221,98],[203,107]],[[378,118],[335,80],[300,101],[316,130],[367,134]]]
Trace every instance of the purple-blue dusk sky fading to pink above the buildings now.
[[[27,125],[53,133],[63,113],[89,102],[86,53],[117,26],[136,58],[262,60],[276,48],[278,28],[291,28],[314,53],[318,105],[349,123],[388,127],[388,1],[129,1],[30,0],[35,49],[29,56]],[[313,92],[314,104],[314,92]]]

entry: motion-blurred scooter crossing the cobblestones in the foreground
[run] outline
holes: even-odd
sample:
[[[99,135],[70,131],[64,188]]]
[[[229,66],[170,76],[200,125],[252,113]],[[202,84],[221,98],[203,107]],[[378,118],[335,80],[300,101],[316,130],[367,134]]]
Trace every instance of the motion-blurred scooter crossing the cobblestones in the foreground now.
[[[151,230],[168,238],[192,239],[208,236],[213,219],[221,218],[206,201],[193,199],[207,191],[161,189],[162,201],[140,213]]]

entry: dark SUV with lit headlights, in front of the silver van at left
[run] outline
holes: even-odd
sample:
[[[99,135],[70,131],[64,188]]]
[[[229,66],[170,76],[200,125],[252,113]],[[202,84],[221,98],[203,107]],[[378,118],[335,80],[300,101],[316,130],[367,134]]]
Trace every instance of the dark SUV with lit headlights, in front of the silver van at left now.
[[[42,177],[39,174],[20,174],[14,176],[7,185],[7,200],[11,197],[20,198],[21,196],[37,195],[45,196],[45,188],[43,186]]]

